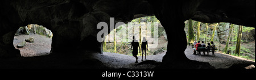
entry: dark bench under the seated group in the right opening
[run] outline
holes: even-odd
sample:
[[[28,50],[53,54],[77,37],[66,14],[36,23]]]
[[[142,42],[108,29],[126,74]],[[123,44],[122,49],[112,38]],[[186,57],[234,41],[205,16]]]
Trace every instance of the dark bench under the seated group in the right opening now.
[[[214,51],[215,51],[215,50],[217,50],[217,48],[198,47],[196,51],[199,52],[199,54],[201,54],[201,52],[204,52],[204,54],[205,54],[205,52],[207,52],[208,54],[209,54],[210,52],[212,52],[212,55],[215,56],[215,54],[214,54]],[[196,53],[196,51],[195,51],[195,49],[194,49],[194,53]]]

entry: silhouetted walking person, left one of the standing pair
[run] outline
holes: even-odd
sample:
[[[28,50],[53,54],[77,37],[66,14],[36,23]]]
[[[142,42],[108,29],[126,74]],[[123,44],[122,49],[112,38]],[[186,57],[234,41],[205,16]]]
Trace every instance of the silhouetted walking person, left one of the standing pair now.
[[[131,49],[133,49],[133,56],[136,58],[135,63],[138,63],[138,57],[137,57],[138,47],[139,47],[139,42],[133,36],[133,42],[131,42]],[[139,48],[139,52],[141,52],[141,48]]]

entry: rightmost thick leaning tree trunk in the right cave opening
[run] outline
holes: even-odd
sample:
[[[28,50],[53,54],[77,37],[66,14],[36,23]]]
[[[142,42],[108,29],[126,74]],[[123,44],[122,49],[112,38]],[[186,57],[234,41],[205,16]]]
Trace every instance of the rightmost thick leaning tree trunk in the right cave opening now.
[[[237,35],[237,45],[236,45],[236,54],[240,56],[240,45],[241,45],[241,39],[242,39],[242,29],[243,26],[239,26],[238,35]]]

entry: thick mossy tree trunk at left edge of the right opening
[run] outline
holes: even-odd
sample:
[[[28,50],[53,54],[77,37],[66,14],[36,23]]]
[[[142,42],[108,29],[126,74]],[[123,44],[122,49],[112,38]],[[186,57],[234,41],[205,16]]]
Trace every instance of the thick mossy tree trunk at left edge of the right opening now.
[[[193,22],[191,19],[188,20],[188,43],[192,44],[194,40]]]

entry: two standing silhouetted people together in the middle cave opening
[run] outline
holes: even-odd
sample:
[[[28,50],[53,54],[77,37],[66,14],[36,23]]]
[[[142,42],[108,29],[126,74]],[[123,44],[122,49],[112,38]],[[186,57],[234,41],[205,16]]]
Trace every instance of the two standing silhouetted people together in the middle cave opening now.
[[[143,61],[143,51],[145,53],[145,60],[146,60],[146,53],[147,53],[147,41],[146,38],[143,37],[143,41],[142,41],[142,61]],[[141,48],[139,47],[139,42],[138,40],[135,39],[135,37],[133,36],[133,41],[131,42],[131,49],[133,49],[133,56],[136,58],[135,63],[138,63],[138,48],[139,48],[139,52],[141,52]]]

